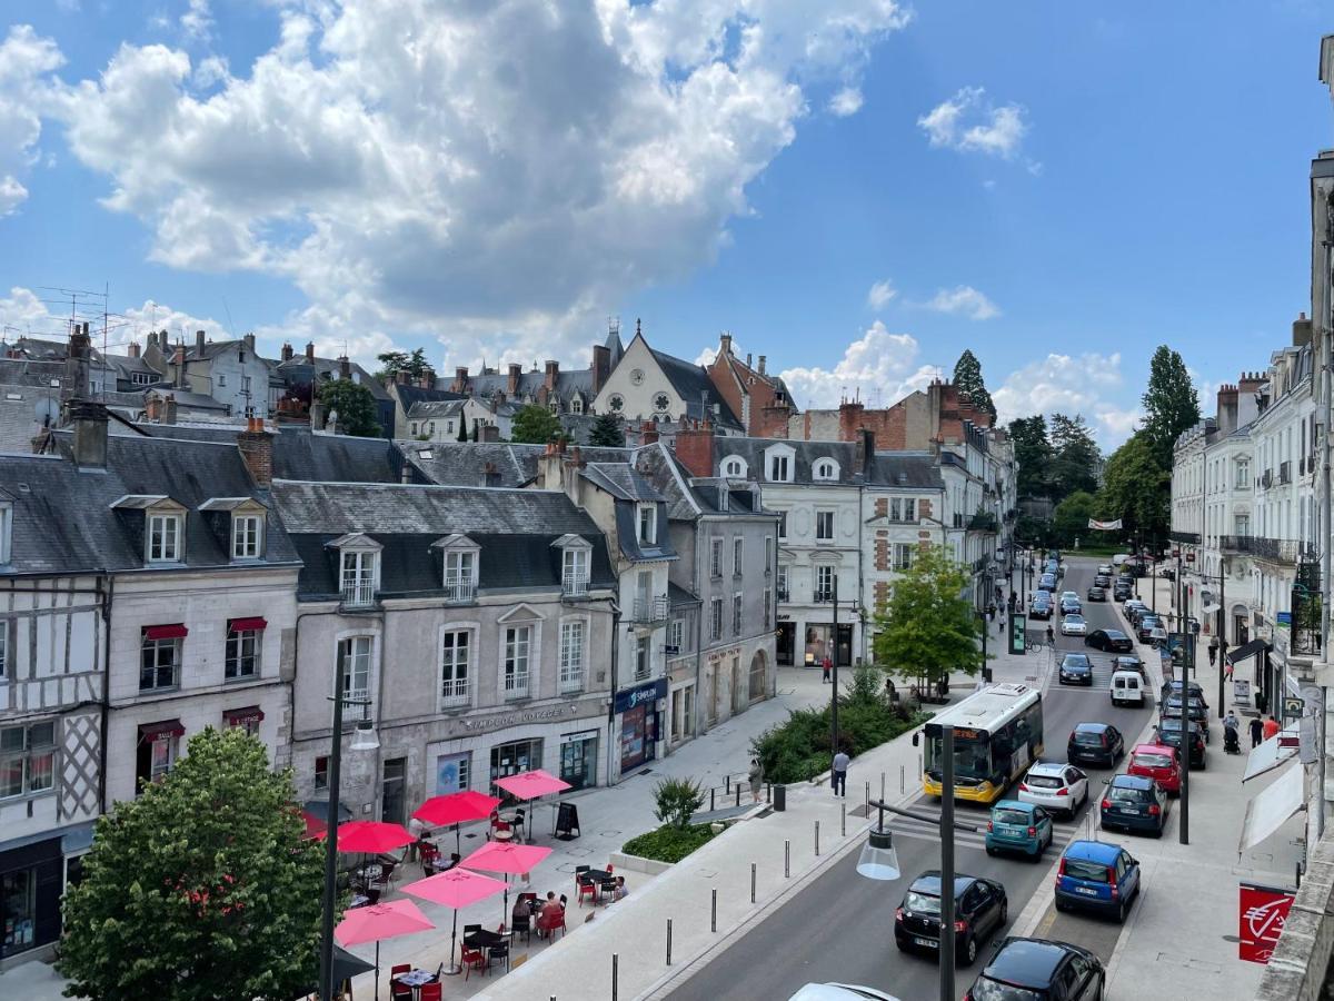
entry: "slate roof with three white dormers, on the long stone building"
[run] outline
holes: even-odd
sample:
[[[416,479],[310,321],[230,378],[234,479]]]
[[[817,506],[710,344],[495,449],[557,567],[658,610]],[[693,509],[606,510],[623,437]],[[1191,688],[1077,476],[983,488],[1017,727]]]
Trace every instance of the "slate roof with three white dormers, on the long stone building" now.
[[[606,538],[564,494],[275,480],[273,498],[304,562],[299,591],[307,599],[338,593],[338,553],[328,543],[348,533],[383,547],[382,594],[440,591],[442,563],[431,545],[454,533],[482,549],[479,590],[559,587],[562,551],[552,543],[566,534],[592,546],[590,586],[615,587]]]

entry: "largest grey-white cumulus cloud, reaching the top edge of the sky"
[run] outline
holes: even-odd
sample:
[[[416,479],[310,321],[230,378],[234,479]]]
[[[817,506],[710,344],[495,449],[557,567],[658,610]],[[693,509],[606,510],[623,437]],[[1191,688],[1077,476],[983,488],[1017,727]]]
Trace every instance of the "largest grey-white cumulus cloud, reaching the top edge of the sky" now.
[[[811,104],[850,109],[908,20],[894,0],[271,3],[248,67],[124,44],[63,87],[73,153],[156,260],[295,283],[285,332],[436,336],[459,363],[568,356],[610,303],[708,264]],[[213,31],[207,4],[187,17]]]

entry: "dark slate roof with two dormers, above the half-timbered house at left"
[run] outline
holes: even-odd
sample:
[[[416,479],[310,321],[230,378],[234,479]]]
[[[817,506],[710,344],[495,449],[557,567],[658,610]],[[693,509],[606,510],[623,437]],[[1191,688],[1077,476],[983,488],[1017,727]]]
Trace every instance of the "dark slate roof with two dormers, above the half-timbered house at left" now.
[[[235,446],[108,438],[107,471],[80,472],[71,458],[71,432],[60,430],[51,438],[51,454],[0,455],[0,483],[13,496],[8,573],[144,567],[143,513],[111,507],[117,499],[137,494],[165,494],[187,509],[187,569],[241,566],[231,563],[228,557],[225,515],[197,510],[213,496],[249,496],[271,507],[267,491],[251,483]],[[281,519],[271,511],[260,565],[295,561]]]

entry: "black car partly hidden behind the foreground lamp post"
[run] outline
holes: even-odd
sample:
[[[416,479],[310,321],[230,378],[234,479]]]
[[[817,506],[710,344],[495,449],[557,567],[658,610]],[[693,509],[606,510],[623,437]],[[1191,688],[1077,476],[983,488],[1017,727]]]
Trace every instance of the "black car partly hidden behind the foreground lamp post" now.
[[[954,957],[971,966],[978,942],[1000,932],[1010,920],[1005,886],[975,876],[954,877]],[[922,873],[894,912],[894,944],[903,952],[940,949],[940,873]]]

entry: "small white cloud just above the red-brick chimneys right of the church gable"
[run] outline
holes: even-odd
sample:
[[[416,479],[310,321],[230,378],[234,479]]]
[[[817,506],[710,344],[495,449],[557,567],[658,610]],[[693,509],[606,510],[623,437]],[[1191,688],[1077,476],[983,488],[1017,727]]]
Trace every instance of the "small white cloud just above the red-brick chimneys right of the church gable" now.
[[[792,399],[807,407],[836,407],[860,395],[868,406],[887,407],[912,390],[926,388],[940,372],[918,363],[920,348],[911,334],[890,334],[876,320],[843,351],[832,368],[787,368],[780,372]]]

